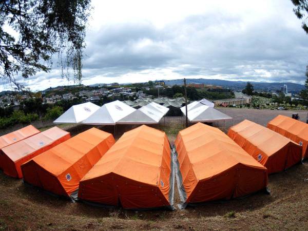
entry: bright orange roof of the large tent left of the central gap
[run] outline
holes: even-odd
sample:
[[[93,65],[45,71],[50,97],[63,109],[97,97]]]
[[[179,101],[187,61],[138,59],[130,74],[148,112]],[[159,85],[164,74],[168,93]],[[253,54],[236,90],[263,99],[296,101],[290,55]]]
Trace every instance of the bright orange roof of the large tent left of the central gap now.
[[[157,185],[167,137],[165,132],[142,125],[125,132],[82,179],[113,172],[138,182]],[[166,148],[166,149],[165,149]],[[134,169],[134,170],[133,170]]]

